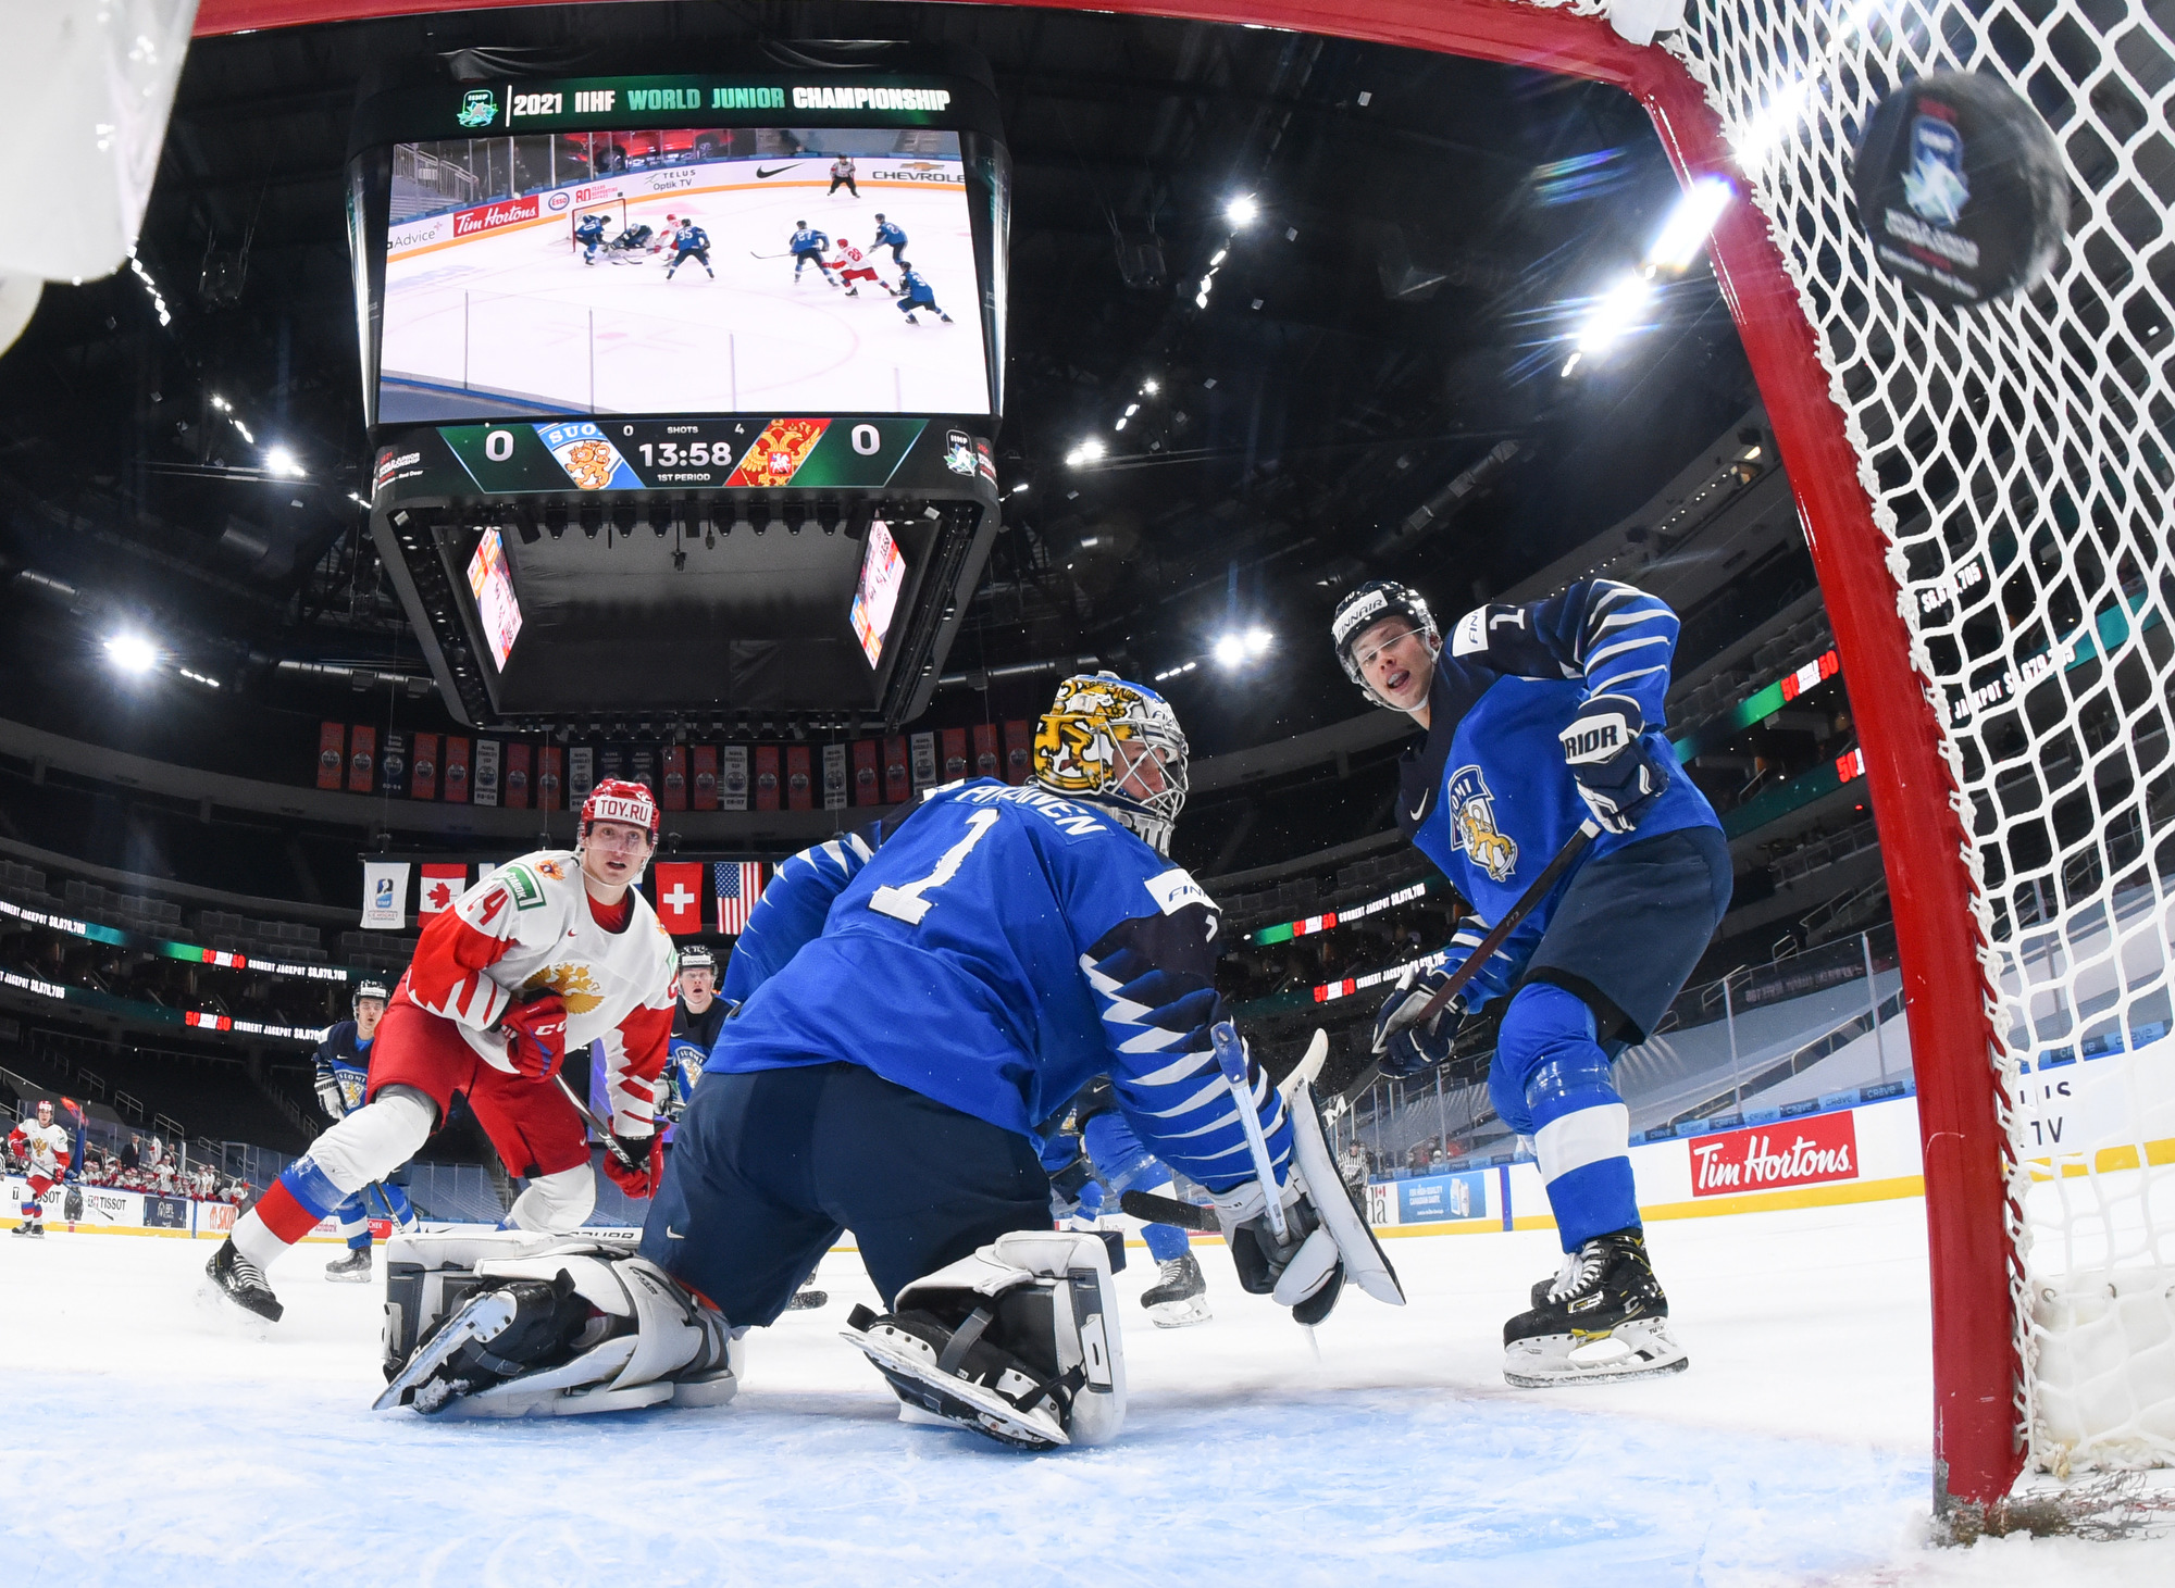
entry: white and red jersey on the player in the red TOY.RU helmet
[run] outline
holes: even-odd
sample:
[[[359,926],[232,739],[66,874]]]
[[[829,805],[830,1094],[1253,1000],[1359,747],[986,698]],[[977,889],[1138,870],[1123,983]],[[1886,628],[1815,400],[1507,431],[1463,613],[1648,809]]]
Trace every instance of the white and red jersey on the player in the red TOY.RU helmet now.
[[[679,955],[639,890],[629,888],[622,907],[624,925],[607,931],[572,851],[522,855],[431,916],[400,988],[413,1005],[459,1022],[483,1062],[507,1072],[507,1040],[492,1027],[550,988],[566,1003],[566,1051],[605,1044],[613,1129],[648,1136],[679,1005]]]

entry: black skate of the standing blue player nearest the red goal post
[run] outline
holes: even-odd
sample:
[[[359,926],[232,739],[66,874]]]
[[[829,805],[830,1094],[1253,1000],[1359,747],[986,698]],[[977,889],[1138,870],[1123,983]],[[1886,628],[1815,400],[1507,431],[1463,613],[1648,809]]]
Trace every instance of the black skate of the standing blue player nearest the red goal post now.
[[[1522,1390],[1683,1373],[1668,1297],[1636,1229],[1596,1236],[1533,1286],[1533,1310],[1503,1325],[1503,1377]]]

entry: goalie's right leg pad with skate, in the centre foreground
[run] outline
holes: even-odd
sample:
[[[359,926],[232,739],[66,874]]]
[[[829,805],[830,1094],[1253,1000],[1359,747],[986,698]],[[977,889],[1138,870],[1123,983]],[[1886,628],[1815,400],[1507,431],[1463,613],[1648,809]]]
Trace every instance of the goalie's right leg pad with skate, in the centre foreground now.
[[[1094,1233],[1016,1231],[855,1307],[844,1338],[937,1418],[1020,1449],[1105,1444],[1124,1427],[1124,1349],[1109,1249]]]

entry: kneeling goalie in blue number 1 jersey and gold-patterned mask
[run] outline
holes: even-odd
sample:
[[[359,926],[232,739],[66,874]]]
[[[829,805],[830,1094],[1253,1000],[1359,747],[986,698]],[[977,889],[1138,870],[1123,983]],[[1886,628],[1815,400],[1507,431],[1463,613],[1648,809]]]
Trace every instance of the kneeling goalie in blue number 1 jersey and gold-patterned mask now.
[[[903,1418],[1029,1449],[1105,1442],[1124,1420],[1109,1249],[1051,1229],[1035,1131],[1096,1075],[1142,1146],[1211,1194],[1246,1290],[1316,1320],[1351,1270],[1401,1303],[1312,1090],[1285,1107],[1259,1066],[1238,1085],[1218,1068],[1220,922],[1168,859],[1183,801],[1185,737],[1161,696],[1068,679],[1035,781],[933,790],[724,1022],[639,1255],[448,1246],[413,1279],[420,1320],[442,1310],[433,1275],[483,1286],[381,1405],[729,1399],[739,1336],[848,1229],[887,1310],[857,1307],[846,1336]]]

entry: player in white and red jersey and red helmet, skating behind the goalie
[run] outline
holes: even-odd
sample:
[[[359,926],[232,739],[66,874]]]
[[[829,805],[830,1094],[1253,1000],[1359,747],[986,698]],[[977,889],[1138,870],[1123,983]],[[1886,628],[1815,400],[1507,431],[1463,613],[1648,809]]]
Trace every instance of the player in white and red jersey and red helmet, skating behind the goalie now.
[[[276,1320],[263,1270],[320,1218],[411,1159],[457,1094],[529,1190],[518,1229],[566,1233],[596,1207],[589,1142],[566,1085],[568,1051],[605,1046],[611,1133],[605,1173],[648,1196],[663,1173],[657,1088],[672,1033],[674,951],[635,890],[657,848],[657,801],[607,779],[581,807],[579,846],[489,872],[435,916],[370,1051],[363,1107],[289,1164],[204,1273]]]

